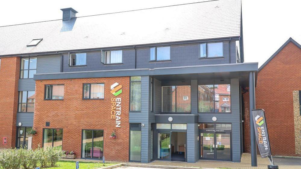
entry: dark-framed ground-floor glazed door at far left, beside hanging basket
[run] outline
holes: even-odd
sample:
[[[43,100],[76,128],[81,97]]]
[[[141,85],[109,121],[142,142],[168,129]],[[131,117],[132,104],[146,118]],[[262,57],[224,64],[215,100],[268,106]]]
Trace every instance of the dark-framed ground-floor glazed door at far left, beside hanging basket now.
[[[28,146],[28,137],[32,136],[29,131],[33,127],[17,127],[17,148]]]

